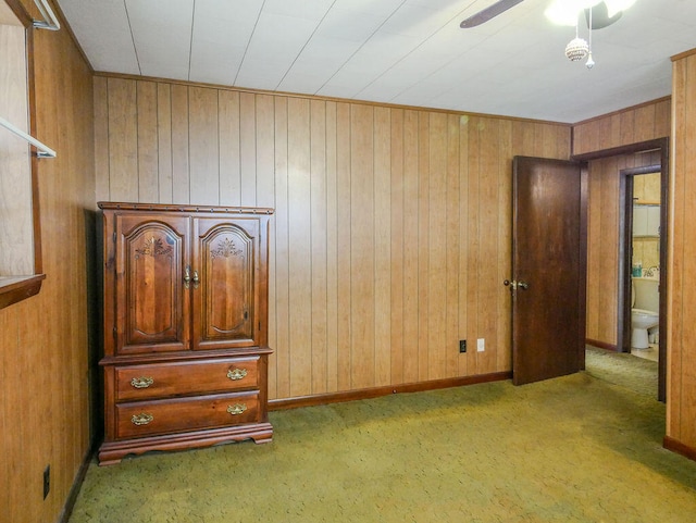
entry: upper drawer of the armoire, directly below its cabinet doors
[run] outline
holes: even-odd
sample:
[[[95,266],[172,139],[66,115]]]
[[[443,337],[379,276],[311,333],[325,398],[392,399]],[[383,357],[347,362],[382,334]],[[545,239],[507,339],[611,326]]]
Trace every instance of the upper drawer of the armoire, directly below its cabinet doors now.
[[[116,401],[258,388],[259,358],[116,366]]]

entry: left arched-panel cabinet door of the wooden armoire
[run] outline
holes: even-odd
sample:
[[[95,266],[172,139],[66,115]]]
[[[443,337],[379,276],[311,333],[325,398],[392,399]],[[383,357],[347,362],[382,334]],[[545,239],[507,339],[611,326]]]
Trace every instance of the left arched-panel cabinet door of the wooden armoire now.
[[[188,216],[115,220],[116,353],[189,349]]]

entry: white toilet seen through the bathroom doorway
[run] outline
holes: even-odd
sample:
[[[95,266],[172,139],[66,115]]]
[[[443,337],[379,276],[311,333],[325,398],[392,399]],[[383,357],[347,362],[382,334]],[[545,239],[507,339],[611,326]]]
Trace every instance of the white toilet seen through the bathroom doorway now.
[[[631,278],[631,347],[647,349],[648,331],[657,336],[660,324],[659,279]]]

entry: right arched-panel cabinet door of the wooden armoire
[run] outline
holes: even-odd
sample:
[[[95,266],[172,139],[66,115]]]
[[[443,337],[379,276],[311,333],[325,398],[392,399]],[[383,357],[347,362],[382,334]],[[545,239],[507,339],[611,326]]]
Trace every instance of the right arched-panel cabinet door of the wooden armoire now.
[[[259,221],[195,219],[194,349],[259,346]]]

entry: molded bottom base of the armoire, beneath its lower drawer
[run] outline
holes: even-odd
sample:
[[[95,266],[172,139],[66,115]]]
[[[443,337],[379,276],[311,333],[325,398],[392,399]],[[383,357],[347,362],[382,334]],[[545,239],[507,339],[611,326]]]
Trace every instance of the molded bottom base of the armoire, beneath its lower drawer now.
[[[116,464],[128,454],[141,454],[152,450],[195,449],[244,439],[252,439],[256,444],[270,443],[273,439],[273,426],[270,423],[254,423],[252,425],[104,441],[99,448],[99,464]]]

